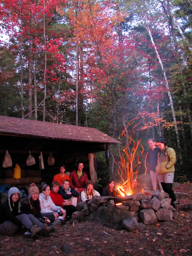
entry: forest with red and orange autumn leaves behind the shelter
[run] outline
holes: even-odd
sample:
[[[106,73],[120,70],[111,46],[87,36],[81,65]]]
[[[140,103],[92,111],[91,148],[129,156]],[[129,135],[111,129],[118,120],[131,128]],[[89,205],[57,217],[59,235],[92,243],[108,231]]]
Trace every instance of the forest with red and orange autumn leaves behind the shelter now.
[[[144,169],[148,138],[163,136],[177,154],[175,180],[188,180],[191,28],[191,0],[2,0],[0,115],[119,139],[109,169],[97,154],[99,178],[117,173],[121,152]]]

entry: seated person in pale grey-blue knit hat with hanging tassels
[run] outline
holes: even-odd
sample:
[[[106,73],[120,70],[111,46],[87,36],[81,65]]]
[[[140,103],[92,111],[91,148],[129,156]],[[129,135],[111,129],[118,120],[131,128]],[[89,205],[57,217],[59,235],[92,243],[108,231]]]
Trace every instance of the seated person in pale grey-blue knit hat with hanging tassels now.
[[[32,214],[21,214],[19,189],[12,187],[8,191],[8,199],[2,204],[0,216],[0,234],[11,236],[24,226],[32,237],[45,232],[45,227]]]

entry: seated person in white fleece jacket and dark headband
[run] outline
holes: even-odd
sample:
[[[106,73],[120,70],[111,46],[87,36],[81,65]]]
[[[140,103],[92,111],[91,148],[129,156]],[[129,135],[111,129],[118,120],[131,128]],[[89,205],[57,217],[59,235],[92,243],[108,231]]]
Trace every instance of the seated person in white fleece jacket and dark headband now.
[[[39,195],[41,216],[47,217],[51,222],[53,222],[53,225],[63,223],[66,216],[66,211],[62,207],[56,206],[53,203],[50,197],[49,185],[42,182],[39,190],[41,192]]]

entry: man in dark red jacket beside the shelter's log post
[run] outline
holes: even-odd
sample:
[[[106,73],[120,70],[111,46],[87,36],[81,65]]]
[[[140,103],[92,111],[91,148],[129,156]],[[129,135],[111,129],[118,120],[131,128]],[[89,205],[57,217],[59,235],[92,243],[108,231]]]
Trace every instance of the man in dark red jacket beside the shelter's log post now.
[[[83,172],[83,163],[78,163],[78,169],[70,173],[70,188],[79,192],[77,202],[81,201],[80,194],[85,189],[85,184],[88,181],[87,174]]]

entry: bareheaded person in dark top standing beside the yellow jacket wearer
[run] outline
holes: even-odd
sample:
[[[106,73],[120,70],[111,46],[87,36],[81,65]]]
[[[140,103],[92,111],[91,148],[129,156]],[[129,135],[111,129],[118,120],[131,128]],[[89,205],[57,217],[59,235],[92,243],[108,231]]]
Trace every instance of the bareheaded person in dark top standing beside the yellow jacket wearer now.
[[[157,190],[159,184],[155,167],[157,166],[158,154],[161,151],[158,147],[155,146],[155,143],[156,142],[153,138],[148,139],[148,145],[150,147],[150,150],[147,152],[145,162],[147,173],[151,176],[153,190]]]

